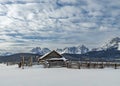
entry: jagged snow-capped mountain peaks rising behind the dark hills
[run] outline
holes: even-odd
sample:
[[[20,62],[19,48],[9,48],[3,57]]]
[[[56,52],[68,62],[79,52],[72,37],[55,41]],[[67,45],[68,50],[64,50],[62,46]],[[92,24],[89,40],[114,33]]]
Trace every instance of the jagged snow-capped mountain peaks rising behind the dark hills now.
[[[59,49],[57,48],[56,51],[64,54],[64,53],[69,53],[69,54],[85,54],[89,51],[102,51],[102,50],[109,50],[109,49],[116,49],[116,50],[120,50],[120,38],[116,37],[113,38],[112,40],[110,40],[108,43],[105,43],[104,46],[102,47],[98,47],[98,48],[93,48],[92,50],[90,50],[89,48],[87,48],[85,45],[79,45],[79,46],[73,46],[73,47],[65,47],[63,49]],[[44,55],[48,52],[50,52],[51,50],[49,48],[40,48],[40,47],[36,47],[33,48],[31,50],[32,53],[34,54],[40,54],[40,55]]]

